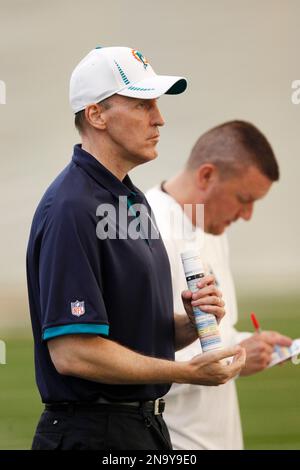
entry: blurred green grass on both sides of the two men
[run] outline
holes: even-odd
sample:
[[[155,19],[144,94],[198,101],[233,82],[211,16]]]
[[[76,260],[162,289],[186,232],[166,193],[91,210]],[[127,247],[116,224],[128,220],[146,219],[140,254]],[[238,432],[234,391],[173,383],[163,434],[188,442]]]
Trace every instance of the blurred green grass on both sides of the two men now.
[[[251,330],[253,309],[263,329],[300,337],[299,298],[240,302],[241,330]],[[0,449],[28,449],[42,405],[33,367],[30,332],[0,334],[7,364],[0,365]],[[247,449],[300,449],[300,365],[274,367],[237,380]],[[226,404],[224,404],[226,406]]]

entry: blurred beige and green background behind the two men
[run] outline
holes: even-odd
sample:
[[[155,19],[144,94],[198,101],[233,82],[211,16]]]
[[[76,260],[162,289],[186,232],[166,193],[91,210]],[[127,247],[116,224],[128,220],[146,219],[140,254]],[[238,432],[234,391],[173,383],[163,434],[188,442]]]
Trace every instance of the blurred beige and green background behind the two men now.
[[[253,122],[277,155],[281,179],[250,223],[229,230],[240,322],[300,337],[300,79],[298,0],[0,0],[1,266],[0,449],[30,446],[41,404],[34,382],[25,251],[34,210],[79,141],[70,74],[96,45],[136,48],[188,90],[159,105],[159,158],[133,171],[147,190],[185,162],[198,136],[231,119]],[[1,99],[0,99],[1,102]],[[247,448],[300,449],[300,366],[238,380]]]

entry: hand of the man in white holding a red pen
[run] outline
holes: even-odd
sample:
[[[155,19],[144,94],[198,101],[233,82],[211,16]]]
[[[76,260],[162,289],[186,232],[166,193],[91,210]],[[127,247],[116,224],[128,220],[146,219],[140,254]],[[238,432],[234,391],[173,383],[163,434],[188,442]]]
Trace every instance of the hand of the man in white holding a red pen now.
[[[251,375],[264,370],[271,361],[276,344],[288,347],[292,344],[292,340],[276,331],[263,331],[241,341],[240,345],[245,348],[247,359],[240,375]]]

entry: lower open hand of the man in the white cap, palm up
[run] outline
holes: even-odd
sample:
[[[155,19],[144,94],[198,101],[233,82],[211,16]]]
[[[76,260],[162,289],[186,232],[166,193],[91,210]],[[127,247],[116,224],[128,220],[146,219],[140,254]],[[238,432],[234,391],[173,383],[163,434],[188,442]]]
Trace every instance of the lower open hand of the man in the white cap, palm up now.
[[[225,365],[224,359],[232,356],[233,361]],[[246,352],[240,346],[199,354],[188,362],[190,376],[186,382],[196,385],[225,384],[240,373],[245,361]]]

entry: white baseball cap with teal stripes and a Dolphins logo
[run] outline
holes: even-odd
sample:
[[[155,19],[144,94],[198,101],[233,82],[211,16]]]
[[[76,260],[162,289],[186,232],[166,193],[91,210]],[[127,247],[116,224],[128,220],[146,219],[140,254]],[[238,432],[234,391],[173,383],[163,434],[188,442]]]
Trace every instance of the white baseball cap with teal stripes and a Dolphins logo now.
[[[147,59],[130,47],[96,47],[75,67],[70,80],[74,113],[109,96],[154,99],[176,95],[187,87],[186,79],[157,75]]]

